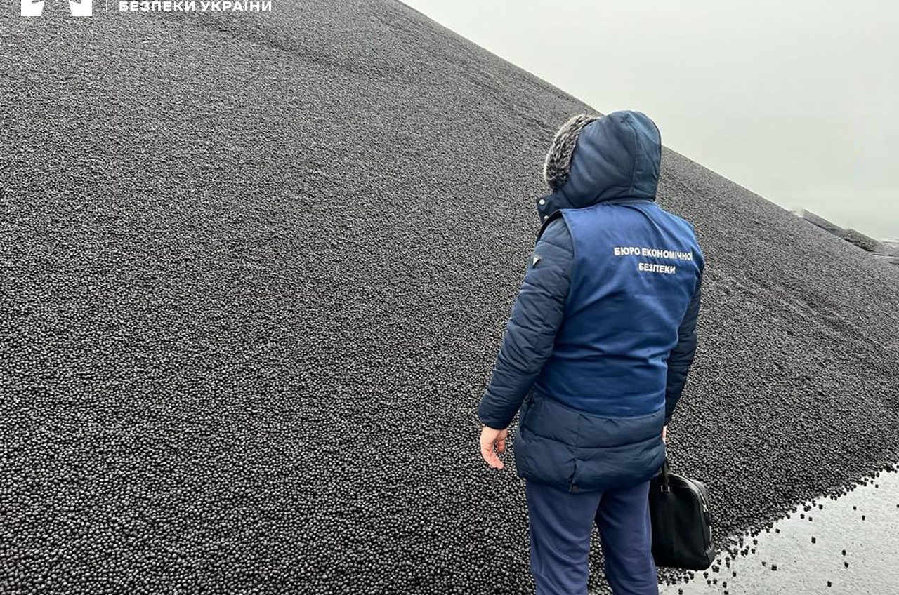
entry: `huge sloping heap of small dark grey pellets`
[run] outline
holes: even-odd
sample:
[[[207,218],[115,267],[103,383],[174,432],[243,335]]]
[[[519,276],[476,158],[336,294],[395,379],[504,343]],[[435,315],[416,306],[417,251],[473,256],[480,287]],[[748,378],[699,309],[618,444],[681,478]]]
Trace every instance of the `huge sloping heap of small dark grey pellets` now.
[[[0,16],[0,592],[529,592],[476,404],[592,110],[394,2],[55,4]],[[659,200],[717,543],[899,460],[899,269],[668,150]]]

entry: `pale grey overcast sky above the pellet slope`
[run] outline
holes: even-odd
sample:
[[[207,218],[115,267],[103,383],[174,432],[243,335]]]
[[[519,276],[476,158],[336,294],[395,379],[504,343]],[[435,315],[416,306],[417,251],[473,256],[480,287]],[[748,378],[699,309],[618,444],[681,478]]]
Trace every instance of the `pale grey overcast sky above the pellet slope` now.
[[[405,3],[786,209],[899,237],[895,0]]]

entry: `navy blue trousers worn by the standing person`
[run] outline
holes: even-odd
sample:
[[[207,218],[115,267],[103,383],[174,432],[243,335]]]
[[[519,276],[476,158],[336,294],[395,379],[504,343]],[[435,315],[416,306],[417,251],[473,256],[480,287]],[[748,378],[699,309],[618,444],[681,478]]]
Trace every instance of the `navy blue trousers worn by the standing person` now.
[[[526,481],[530,572],[537,595],[587,595],[593,523],[606,579],[615,595],[658,595],[652,553],[649,482],[602,492],[569,493]]]

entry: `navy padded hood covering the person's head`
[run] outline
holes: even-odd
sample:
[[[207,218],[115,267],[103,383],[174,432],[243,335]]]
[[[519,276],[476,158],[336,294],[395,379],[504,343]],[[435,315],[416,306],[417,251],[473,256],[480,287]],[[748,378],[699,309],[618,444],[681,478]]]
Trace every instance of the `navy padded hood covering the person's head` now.
[[[561,160],[567,171],[547,176],[563,182],[537,200],[541,222],[559,209],[583,209],[603,200],[655,200],[662,138],[653,120],[639,111],[613,111],[571,130],[559,130],[547,155],[548,164],[557,147],[572,144],[565,136],[577,135],[570,161]]]

